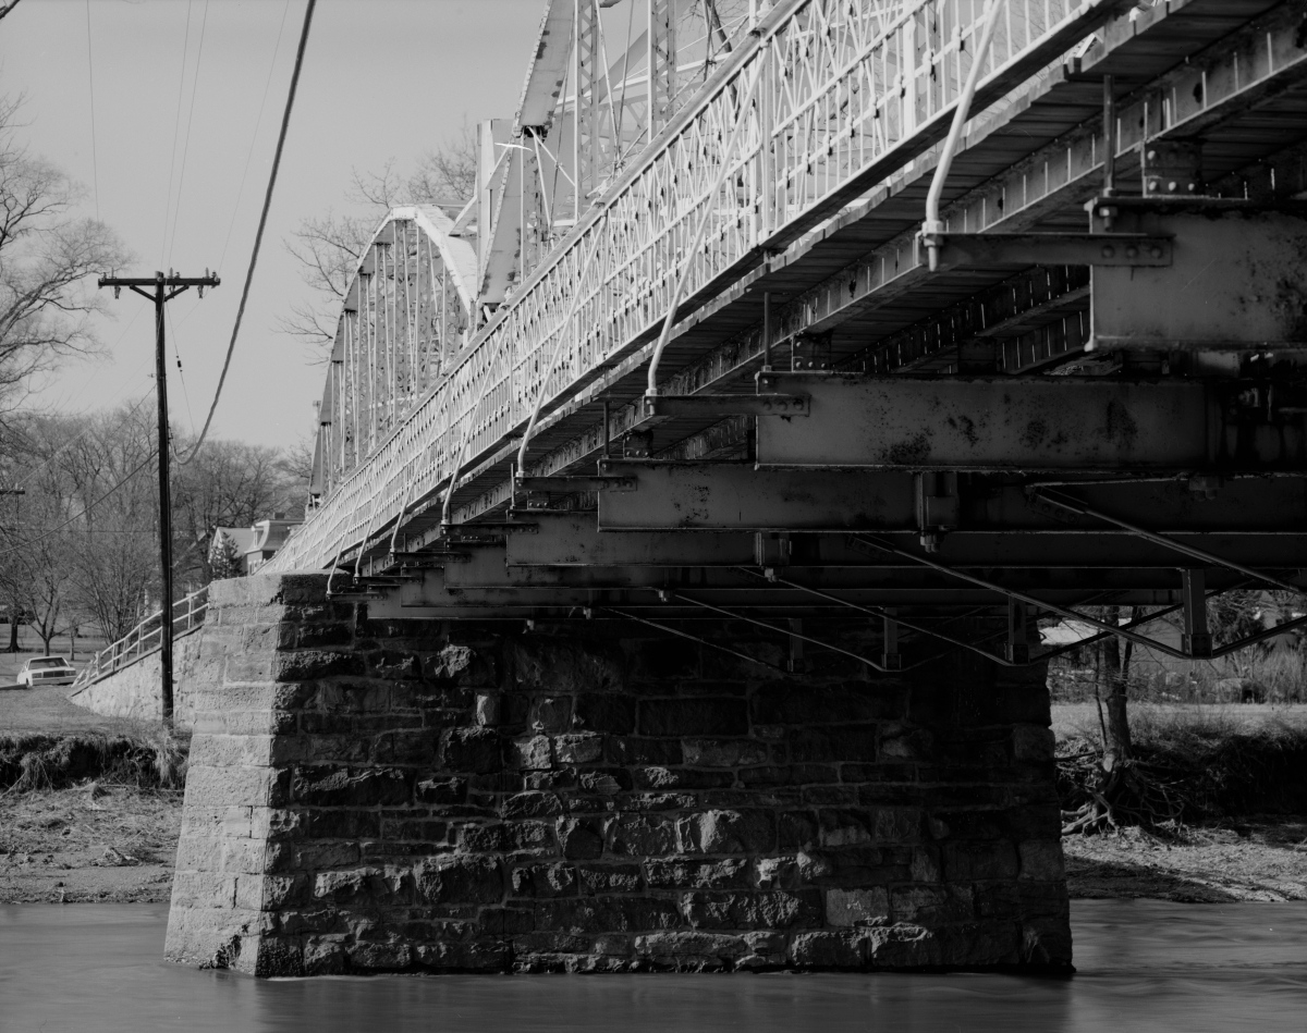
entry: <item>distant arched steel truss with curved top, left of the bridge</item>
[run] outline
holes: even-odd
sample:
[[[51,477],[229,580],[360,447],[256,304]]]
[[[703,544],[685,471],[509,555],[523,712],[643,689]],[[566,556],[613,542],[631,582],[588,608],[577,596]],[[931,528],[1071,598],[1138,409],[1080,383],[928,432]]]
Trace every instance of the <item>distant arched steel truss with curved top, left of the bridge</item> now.
[[[312,495],[366,462],[471,338],[476,253],[452,225],[439,209],[396,208],[363,249],[336,321]]]

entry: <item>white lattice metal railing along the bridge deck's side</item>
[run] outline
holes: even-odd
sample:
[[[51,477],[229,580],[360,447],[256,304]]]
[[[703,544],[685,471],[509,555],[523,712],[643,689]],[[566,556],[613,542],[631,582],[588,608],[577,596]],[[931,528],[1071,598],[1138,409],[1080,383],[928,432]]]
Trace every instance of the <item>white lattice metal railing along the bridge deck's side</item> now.
[[[1111,7],[1000,3],[975,110],[1060,57]],[[537,392],[549,411],[630,354],[656,333],[686,266],[693,302],[759,248],[901,175],[946,132],[984,10],[983,0],[778,3],[272,568],[329,565],[520,434]]]

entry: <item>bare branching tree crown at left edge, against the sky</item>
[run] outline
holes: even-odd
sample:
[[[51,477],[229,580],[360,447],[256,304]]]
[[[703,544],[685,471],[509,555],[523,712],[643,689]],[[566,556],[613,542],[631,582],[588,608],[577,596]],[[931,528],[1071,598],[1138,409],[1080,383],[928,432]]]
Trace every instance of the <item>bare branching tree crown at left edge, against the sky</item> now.
[[[35,372],[95,346],[90,316],[103,311],[88,278],[128,255],[116,234],[73,209],[80,191],[14,141],[18,102],[0,101],[0,406]]]

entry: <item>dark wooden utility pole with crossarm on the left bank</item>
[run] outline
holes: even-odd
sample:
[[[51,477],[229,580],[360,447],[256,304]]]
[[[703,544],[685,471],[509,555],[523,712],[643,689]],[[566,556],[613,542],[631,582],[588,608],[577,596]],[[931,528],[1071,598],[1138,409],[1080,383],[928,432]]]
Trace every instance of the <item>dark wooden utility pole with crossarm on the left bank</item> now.
[[[167,363],[163,360],[163,306],[171,302],[187,287],[199,289],[204,296],[205,287],[216,287],[221,281],[208,269],[203,277],[182,277],[169,270],[167,276],[156,273],[153,277],[102,276],[99,286],[112,287],[114,296],[123,287],[154,302],[154,390],[158,397],[158,456],[159,456],[159,567],[163,577],[163,606],[159,610],[159,671],[162,675],[161,697],[163,704],[163,723],[173,726],[173,492],[169,483],[169,426],[167,426]],[[149,287],[150,290],[146,290]]]

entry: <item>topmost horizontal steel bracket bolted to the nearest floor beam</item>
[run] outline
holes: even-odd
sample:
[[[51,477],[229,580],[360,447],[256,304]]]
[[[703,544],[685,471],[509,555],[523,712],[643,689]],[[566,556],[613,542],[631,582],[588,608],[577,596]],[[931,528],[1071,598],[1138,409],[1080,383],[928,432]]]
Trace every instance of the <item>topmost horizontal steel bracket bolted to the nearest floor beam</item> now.
[[[1155,234],[933,234],[941,270],[995,265],[1171,264],[1171,239]],[[924,236],[923,244],[931,243]]]

